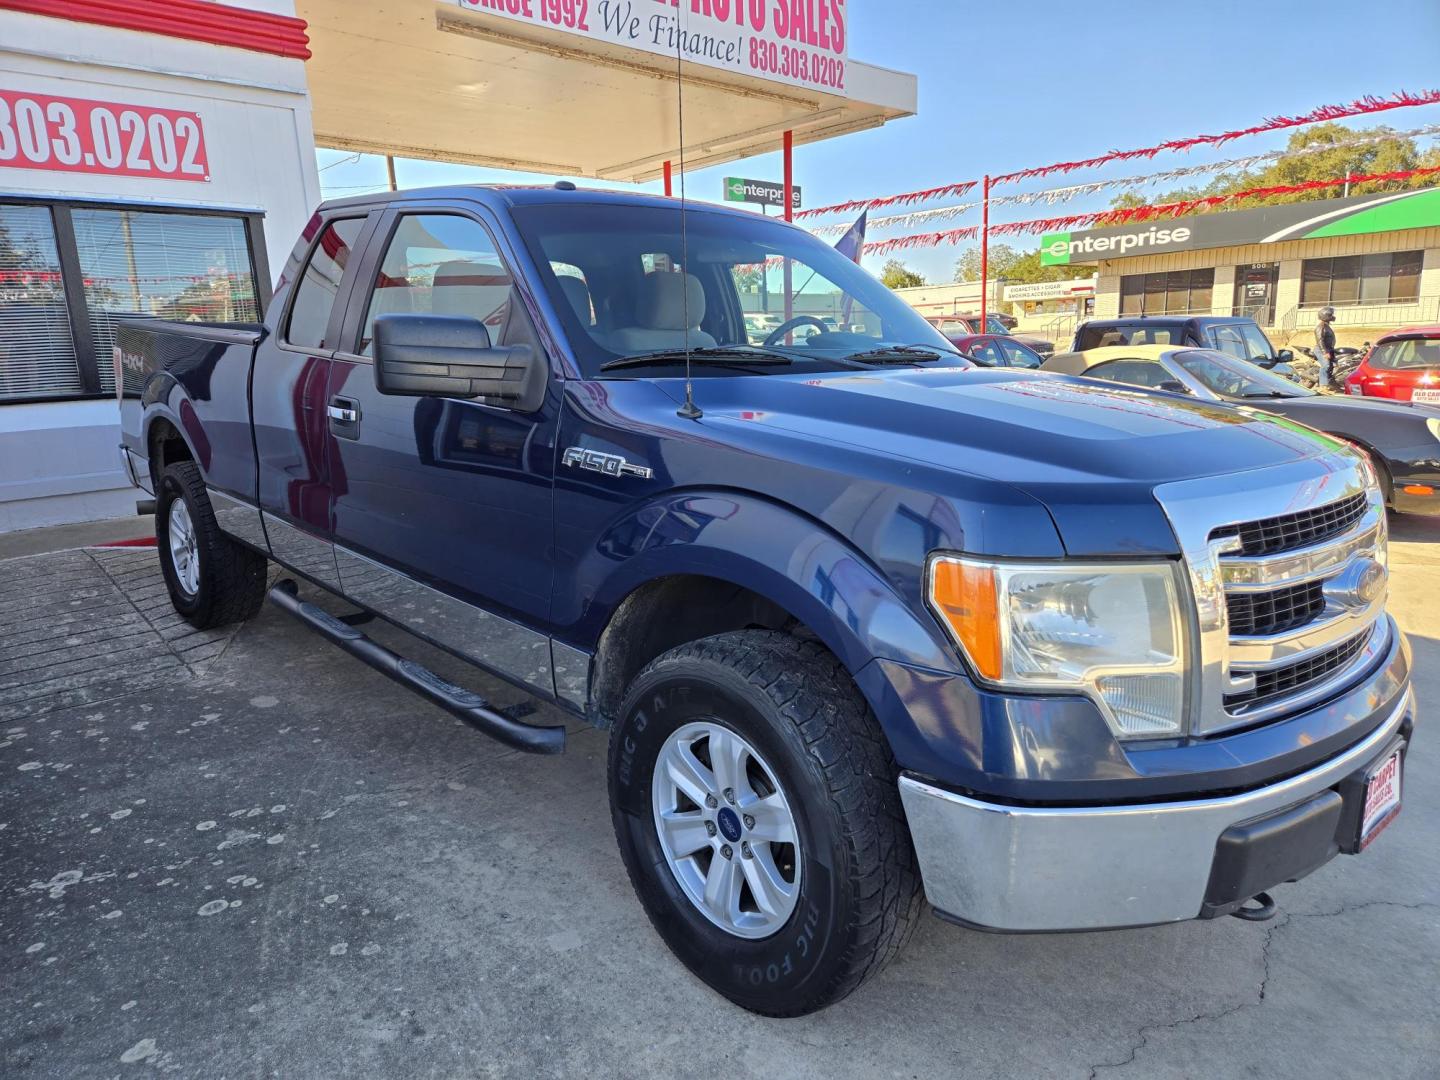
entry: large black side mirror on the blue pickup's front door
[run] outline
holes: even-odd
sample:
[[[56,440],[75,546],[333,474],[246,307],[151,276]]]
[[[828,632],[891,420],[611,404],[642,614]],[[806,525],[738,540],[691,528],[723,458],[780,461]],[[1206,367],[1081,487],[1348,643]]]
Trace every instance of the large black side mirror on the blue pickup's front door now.
[[[492,347],[485,324],[468,315],[374,320],[374,386],[386,395],[514,402],[534,357],[530,346]]]

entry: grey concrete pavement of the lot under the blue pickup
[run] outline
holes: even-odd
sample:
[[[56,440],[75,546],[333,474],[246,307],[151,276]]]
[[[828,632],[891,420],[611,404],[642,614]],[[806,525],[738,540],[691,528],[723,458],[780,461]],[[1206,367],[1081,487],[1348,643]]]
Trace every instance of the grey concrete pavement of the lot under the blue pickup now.
[[[927,917],[793,1021],[652,933],[603,734],[507,752],[274,609],[190,635],[153,550],[0,562],[0,1074],[1434,1077],[1440,523],[1395,531],[1421,730],[1371,851],[1279,888],[1264,924]]]

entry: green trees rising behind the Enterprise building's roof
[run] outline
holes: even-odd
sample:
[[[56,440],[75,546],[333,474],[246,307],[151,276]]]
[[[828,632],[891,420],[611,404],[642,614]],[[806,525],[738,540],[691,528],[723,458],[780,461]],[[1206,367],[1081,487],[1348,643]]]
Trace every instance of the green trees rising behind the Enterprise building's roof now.
[[[1272,161],[1264,168],[1240,173],[1221,173],[1207,184],[1176,187],[1161,194],[1140,194],[1125,192],[1110,200],[1110,204],[1123,209],[1132,206],[1146,206],[1152,203],[1178,203],[1187,199],[1201,199],[1214,194],[1234,194],[1253,187],[1283,187],[1286,184],[1303,184],[1308,180],[1339,180],[1345,176],[1367,176],[1371,173],[1404,173],[1410,168],[1426,168],[1440,164],[1440,148],[1431,148],[1421,154],[1416,150],[1413,138],[1390,138],[1384,143],[1368,143],[1355,145],[1356,140],[1382,135],[1394,131],[1388,127],[1354,130],[1344,124],[1316,124],[1315,127],[1295,131],[1286,143],[1287,151],[1310,150],[1328,147],[1313,154],[1293,157],[1289,160]],[[1436,183],[1434,176],[1418,176],[1410,180],[1369,181],[1351,184],[1349,194],[1374,194],[1378,192],[1404,192],[1413,187],[1430,187]],[[1270,194],[1247,199],[1243,206],[1274,206],[1279,203],[1305,203],[1318,199],[1339,199],[1345,194],[1344,184],[1333,187],[1318,187],[1310,192],[1296,192],[1293,194]]]

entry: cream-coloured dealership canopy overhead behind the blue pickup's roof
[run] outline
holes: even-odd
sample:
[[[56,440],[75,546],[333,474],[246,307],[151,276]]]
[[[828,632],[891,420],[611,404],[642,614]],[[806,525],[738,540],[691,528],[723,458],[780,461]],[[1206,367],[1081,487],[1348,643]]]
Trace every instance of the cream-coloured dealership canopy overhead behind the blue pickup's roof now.
[[[300,0],[315,141],[641,181],[874,128],[913,75],[850,56],[841,0]],[[677,19],[678,30],[677,33]],[[677,58],[678,52],[678,58]]]

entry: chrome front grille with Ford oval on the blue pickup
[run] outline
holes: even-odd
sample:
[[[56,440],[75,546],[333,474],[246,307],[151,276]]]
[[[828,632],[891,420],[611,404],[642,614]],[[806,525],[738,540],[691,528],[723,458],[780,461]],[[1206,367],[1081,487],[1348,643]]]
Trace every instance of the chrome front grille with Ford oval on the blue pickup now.
[[[1192,734],[1312,707],[1390,647],[1385,510],[1359,459],[1325,454],[1156,498],[1195,599]]]

